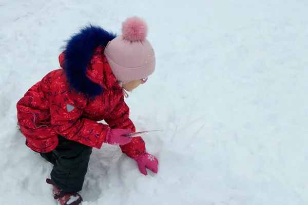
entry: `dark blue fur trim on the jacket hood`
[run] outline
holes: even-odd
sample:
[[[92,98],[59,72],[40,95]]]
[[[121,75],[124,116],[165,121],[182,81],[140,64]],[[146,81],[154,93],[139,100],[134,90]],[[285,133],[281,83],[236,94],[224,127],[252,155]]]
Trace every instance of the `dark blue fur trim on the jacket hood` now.
[[[87,76],[87,66],[94,50],[99,46],[106,47],[108,42],[117,37],[99,26],[86,26],[79,33],[67,40],[65,49],[64,72],[68,83],[77,92],[96,96],[103,92],[102,87],[93,83]]]

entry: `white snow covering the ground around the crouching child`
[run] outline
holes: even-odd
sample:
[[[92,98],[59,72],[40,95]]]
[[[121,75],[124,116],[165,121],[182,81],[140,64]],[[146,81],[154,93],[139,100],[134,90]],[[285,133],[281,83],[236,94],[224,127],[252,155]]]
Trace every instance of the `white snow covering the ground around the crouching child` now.
[[[83,204],[307,204],[308,2],[0,3],[0,204],[56,204],[52,166],[25,146],[16,103],[88,22],[146,19],[157,69],[126,100],[159,172],[93,150]]]

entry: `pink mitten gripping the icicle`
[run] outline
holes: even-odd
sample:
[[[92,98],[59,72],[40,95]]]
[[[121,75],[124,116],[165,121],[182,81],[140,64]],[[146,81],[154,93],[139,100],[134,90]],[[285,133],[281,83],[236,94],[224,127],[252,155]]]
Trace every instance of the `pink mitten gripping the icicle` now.
[[[122,135],[130,134],[131,130],[124,130],[124,129],[109,129],[104,142],[110,145],[126,145],[131,142],[130,137],[124,137]]]

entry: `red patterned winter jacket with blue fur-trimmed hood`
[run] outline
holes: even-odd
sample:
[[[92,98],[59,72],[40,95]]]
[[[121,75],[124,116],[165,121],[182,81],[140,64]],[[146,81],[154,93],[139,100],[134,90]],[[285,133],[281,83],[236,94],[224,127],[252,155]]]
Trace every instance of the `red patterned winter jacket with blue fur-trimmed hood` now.
[[[122,88],[104,55],[114,37],[100,27],[81,30],[59,56],[63,69],[48,73],[18,101],[18,124],[29,148],[50,152],[59,134],[100,149],[108,127],[136,131]],[[108,125],[98,122],[102,120]],[[132,158],[145,152],[141,137],[120,147]]]

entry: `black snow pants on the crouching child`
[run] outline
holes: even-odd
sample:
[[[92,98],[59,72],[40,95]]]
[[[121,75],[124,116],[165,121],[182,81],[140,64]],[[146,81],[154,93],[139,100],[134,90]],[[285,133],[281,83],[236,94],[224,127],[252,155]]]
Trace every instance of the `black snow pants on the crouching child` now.
[[[48,153],[40,153],[54,166],[50,173],[55,186],[67,193],[82,190],[92,148],[62,136],[58,136],[59,145]]]

